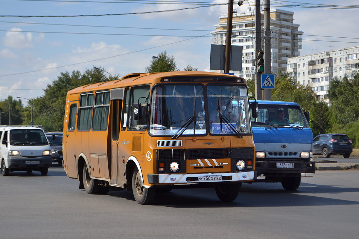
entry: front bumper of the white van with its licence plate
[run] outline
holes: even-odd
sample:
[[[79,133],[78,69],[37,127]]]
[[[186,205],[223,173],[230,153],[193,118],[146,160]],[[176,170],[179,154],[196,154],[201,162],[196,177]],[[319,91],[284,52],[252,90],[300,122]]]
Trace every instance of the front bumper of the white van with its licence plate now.
[[[28,158],[26,156],[8,156],[8,168],[11,169],[34,169],[49,168],[52,164],[51,155]]]

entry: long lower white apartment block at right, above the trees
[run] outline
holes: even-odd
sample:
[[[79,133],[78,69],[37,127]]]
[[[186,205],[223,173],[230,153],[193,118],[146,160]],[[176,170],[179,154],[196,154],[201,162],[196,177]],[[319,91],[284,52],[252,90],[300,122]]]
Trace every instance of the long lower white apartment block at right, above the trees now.
[[[318,95],[318,100],[328,100],[328,87],[337,77],[353,77],[359,69],[359,46],[321,52],[288,59],[287,72],[301,85],[308,85]]]

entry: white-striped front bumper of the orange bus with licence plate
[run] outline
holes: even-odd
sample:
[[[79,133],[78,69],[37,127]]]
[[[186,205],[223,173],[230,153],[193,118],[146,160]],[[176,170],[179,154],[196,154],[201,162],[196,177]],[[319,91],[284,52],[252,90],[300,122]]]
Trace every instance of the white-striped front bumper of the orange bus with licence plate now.
[[[257,178],[256,171],[238,173],[198,173],[198,174],[148,174],[152,184],[206,183],[206,182],[246,182]]]

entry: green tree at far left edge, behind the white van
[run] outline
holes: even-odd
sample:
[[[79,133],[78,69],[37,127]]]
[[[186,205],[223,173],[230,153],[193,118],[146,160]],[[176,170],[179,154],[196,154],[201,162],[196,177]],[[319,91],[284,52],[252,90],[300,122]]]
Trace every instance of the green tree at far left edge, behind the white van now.
[[[14,100],[12,96],[8,96],[8,99],[0,101],[0,112],[1,125],[21,125],[23,123],[21,100]],[[11,120],[10,123],[9,120]]]

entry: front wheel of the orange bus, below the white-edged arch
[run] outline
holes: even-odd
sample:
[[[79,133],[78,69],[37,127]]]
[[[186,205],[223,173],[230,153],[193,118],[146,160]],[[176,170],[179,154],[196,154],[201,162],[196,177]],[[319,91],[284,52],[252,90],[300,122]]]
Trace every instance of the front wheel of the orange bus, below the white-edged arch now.
[[[132,192],[138,204],[150,204],[155,197],[155,188],[146,188],[142,183],[141,173],[135,168],[132,173]]]

